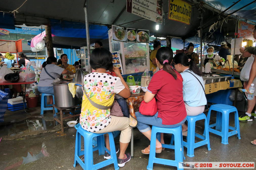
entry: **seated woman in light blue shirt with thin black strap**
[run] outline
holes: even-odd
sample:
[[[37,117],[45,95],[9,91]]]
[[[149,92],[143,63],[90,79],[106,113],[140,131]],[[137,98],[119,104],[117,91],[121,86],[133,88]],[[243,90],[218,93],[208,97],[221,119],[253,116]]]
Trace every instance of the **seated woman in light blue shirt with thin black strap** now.
[[[179,53],[173,59],[173,64],[177,72],[183,78],[183,100],[187,111],[187,116],[196,116],[204,112],[207,100],[204,93],[204,80],[202,72],[197,67],[195,61],[189,59],[186,54]],[[182,125],[182,131],[186,135],[187,125]]]

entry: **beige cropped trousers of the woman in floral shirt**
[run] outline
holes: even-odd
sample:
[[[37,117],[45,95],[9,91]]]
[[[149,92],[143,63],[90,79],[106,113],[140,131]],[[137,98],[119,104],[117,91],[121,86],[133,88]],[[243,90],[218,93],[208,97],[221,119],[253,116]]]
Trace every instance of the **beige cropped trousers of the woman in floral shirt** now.
[[[93,132],[93,133],[107,133],[114,132],[116,130],[121,130],[119,141],[122,143],[129,143],[132,136],[132,127],[129,126],[129,118],[128,117],[117,117],[111,115],[111,121],[108,126],[103,129]]]

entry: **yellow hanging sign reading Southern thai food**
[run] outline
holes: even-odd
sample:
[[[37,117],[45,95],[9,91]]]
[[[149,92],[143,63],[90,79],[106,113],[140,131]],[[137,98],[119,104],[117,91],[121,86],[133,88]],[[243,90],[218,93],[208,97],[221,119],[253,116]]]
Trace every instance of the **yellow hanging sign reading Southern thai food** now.
[[[190,23],[192,6],[181,0],[169,0],[168,19]]]

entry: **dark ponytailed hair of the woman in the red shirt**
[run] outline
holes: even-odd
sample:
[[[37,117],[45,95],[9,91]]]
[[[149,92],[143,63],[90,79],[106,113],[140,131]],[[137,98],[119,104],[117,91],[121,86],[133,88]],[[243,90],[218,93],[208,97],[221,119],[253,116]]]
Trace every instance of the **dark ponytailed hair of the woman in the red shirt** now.
[[[170,73],[176,80],[177,74],[170,65],[173,60],[173,50],[169,47],[159,48],[156,53],[156,59],[161,63],[161,65],[163,65],[163,70]]]

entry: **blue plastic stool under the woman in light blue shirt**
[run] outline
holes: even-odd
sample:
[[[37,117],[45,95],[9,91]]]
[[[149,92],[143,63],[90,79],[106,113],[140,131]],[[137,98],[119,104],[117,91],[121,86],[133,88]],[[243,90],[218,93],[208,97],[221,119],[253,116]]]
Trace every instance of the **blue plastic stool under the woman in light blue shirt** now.
[[[205,130],[204,130],[204,135],[199,135],[195,132],[195,126],[196,126],[196,121],[202,120],[202,119],[205,120]],[[208,121],[207,121],[206,115],[202,113],[197,116],[187,116],[187,121],[188,121],[187,142],[183,141],[183,145],[187,148],[187,156],[194,157],[195,156],[194,149],[203,145],[207,145],[208,151],[211,150],[209,128],[208,128]],[[195,143],[195,136],[203,140]]]

